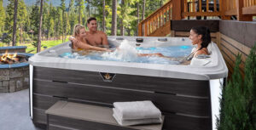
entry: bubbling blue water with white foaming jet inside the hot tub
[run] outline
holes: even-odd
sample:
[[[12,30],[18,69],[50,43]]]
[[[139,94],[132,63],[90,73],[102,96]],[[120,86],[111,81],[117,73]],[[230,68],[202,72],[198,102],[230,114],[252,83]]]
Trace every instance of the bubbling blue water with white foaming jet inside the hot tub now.
[[[149,64],[180,64],[177,59],[183,59],[191,53],[193,46],[167,46],[167,47],[132,47],[128,41],[120,43],[118,48],[111,48],[113,52],[80,51],[77,53],[64,53],[60,57],[68,59],[86,59],[86,60],[108,60],[137,62]],[[175,60],[158,56],[138,56],[137,54],[156,54],[160,53],[166,57],[174,57]]]

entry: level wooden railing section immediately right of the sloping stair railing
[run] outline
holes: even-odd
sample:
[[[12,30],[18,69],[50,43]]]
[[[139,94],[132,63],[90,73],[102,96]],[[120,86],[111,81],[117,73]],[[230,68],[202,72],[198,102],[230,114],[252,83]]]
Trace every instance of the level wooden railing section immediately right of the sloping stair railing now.
[[[219,16],[222,0],[183,0],[183,17]]]

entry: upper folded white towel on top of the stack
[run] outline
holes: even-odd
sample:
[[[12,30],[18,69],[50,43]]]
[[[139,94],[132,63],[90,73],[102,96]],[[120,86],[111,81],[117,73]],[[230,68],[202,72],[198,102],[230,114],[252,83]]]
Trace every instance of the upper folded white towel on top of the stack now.
[[[151,101],[115,102],[113,106],[122,120],[161,117],[161,112]]]

